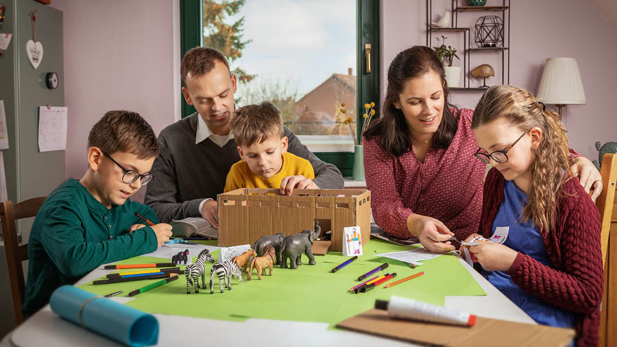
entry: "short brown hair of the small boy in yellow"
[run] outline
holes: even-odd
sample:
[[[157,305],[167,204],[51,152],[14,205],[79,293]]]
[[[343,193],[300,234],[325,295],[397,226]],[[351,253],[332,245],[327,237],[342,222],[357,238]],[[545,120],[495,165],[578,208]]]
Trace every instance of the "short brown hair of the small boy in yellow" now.
[[[238,108],[232,119],[232,132],[236,143],[241,146],[250,146],[253,143],[262,143],[269,136],[283,136],[282,119],[276,106],[263,101],[258,105],[247,105]]]

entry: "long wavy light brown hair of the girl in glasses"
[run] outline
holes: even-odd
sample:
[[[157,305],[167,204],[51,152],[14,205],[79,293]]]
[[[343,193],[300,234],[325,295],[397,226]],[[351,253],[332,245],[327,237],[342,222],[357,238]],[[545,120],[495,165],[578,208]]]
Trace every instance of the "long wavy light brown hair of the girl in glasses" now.
[[[568,134],[557,113],[544,110],[543,104],[528,91],[513,86],[492,86],[482,95],[472,119],[472,129],[495,119],[506,119],[522,131],[542,130],[531,167],[529,203],[522,220],[540,226],[543,232],[555,228],[556,204],[561,185],[570,180]],[[542,228],[544,226],[544,228]]]

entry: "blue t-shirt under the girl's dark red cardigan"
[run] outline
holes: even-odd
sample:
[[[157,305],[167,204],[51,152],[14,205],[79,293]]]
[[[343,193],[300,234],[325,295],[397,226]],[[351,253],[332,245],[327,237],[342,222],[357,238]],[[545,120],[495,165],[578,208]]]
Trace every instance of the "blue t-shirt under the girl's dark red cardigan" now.
[[[531,220],[520,222],[523,204],[527,203],[527,194],[516,187],[513,181],[505,181],[503,190],[505,199],[492,225],[492,234],[500,226],[509,227],[505,246],[527,254],[544,265],[551,266],[551,261],[544,248],[544,240],[533,226]],[[574,327],[574,313],[555,307],[539,300],[514,283],[503,271],[482,270],[482,275],[505,296],[527,313],[535,322],[561,328]]]

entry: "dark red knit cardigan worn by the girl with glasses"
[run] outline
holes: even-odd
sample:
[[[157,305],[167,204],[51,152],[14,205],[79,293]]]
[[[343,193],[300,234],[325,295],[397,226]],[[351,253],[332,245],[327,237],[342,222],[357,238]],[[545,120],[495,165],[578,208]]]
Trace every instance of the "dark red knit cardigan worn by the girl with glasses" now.
[[[499,205],[505,196],[505,180],[496,169],[487,175],[480,233],[489,237]],[[576,346],[598,346],[600,302],[604,271],[600,246],[601,219],[598,208],[579,180],[572,178],[557,200],[556,230],[542,234],[551,267],[518,253],[508,274],[516,285],[548,304],[576,315]]]

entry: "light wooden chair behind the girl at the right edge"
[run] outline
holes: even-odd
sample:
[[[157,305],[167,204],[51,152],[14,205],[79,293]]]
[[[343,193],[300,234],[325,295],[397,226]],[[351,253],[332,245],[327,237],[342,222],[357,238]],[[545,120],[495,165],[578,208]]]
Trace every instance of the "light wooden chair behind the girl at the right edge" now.
[[[596,200],[602,218],[604,294],[600,312],[599,346],[617,346],[617,154],[605,154],[601,169],[603,189]]]

